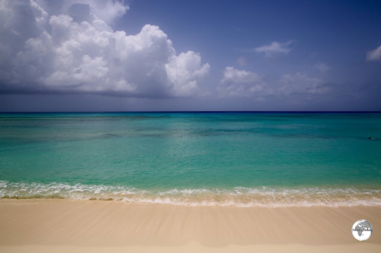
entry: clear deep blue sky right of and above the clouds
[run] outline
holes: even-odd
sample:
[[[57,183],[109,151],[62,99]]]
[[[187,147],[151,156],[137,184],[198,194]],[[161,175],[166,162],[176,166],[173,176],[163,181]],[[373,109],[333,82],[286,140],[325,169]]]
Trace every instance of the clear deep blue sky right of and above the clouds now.
[[[309,72],[326,63],[334,82],[372,81],[379,62],[365,62],[381,44],[379,1],[132,1],[115,28],[138,33],[158,25],[178,51],[200,52],[219,81],[223,69],[247,59],[245,69],[268,75]],[[131,31],[131,32],[130,32]],[[295,41],[288,55],[266,59],[244,49]],[[360,77],[361,76],[361,77]]]

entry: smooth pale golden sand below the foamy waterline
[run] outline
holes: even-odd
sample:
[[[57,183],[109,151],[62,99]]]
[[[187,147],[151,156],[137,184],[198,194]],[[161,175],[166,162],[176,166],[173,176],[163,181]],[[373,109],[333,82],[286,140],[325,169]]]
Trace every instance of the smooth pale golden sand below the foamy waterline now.
[[[203,207],[1,199],[1,252],[381,251],[381,207]],[[354,239],[366,219],[373,235]]]

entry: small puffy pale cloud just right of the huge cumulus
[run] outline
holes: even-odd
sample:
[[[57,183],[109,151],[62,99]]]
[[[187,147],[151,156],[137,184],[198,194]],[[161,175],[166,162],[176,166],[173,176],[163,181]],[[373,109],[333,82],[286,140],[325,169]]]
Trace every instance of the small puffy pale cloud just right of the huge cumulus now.
[[[220,96],[262,96],[268,92],[263,76],[246,70],[226,67],[223,79],[217,87]]]

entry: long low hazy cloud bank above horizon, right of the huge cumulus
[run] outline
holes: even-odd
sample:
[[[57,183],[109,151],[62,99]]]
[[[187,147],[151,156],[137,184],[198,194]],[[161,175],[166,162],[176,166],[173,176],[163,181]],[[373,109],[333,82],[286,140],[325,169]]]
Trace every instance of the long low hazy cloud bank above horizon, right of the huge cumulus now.
[[[217,87],[219,96],[223,98],[248,98],[275,103],[363,98],[373,89],[373,84],[335,84],[301,72],[283,74],[277,81],[269,82],[264,75],[233,67],[225,68]]]

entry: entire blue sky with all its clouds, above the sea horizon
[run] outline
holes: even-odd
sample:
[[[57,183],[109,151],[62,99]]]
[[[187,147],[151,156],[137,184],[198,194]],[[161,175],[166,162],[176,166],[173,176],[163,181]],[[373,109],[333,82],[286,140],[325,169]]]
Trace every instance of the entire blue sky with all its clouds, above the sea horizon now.
[[[380,1],[0,0],[0,111],[381,111]]]

